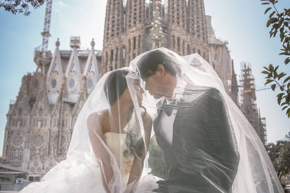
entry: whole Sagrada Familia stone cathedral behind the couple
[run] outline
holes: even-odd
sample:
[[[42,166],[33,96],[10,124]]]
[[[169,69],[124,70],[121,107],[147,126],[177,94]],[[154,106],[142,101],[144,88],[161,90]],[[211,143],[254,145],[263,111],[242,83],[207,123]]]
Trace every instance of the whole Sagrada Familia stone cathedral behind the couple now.
[[[152,36],[156,30],[159,33]],[[37,70],[23,76],[17,99],[9,106],[2,163],[26,171],[31,182],[39,181],[66,158],[78,113],[99,78],[157,47],[204,57],[265,143],[250,66],[243,63],[243,84],[238,86],[227,42],[216,38],[203,0],[108,0],[103,39],[102,50],[94,49],[93,40],[90,49],[81,50],[78,36],[70,38],[69,50],[59,49],[61,40],[53,54],[36,50]],[[243,100],[239,100],[239,87]]]

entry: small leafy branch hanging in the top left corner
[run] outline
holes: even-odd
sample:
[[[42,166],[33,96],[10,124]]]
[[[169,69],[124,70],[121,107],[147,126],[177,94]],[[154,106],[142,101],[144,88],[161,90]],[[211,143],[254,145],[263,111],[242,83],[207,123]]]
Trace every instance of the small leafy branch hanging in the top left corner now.
[[[4,2],[0,1],[0,7],[13,14],[23,13],[25,16],[28,16],[31,13],[28,11],[29,6],[37,9],[44,3],[45,0],[5,0]]]

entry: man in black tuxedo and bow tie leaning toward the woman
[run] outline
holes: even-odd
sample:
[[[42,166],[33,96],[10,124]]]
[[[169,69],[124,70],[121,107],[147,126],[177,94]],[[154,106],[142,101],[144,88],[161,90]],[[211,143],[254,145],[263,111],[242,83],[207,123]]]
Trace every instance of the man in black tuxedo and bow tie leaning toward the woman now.
[[[157,181],[159,188],[153,191],[231,192],[239,154],[221,94],[212,87],[186,83],[170,57],[152,50],[137,64],[145,89],[155,99],[162,98],[153,128],[165,180]]]

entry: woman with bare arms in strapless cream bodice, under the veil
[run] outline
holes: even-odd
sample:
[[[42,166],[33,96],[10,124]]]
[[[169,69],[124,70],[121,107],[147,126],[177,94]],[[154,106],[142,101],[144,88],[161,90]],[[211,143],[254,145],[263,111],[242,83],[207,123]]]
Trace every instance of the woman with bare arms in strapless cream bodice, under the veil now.
[[[128,73],[127,68],[121,68],[108,75],[104,92],[110,107],[93,112],[87,119],[89,138],[95,156],[99,158],[103,185],[109,192],[110,182],[112,179],[115,181],[116,176],[114,176],[112,158],[108,149],[114,155],[121,170],[121,186],[125,188],[127,185],[133,185],[141,177],[152,129],[152,118],[141,106],[144,90],[140,87],[140,80],[135,79],[134,91],[137,93],[138,105],[143,110],[141,112],[143,140],[136,122],[134,103],[127,87]]]

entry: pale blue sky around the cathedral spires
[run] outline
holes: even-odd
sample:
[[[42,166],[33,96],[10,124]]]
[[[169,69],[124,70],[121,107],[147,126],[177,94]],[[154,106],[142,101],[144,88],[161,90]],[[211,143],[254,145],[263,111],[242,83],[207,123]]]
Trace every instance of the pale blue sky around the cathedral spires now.
[[[281,43],[278,38],[269,38],[266,28],[267,8],[259,0],[204,0],[205,13],[212,16],[212,27],[218,38],[227,40],[234,59],[237,78],[240,62],[252,64],[256,85],[263,86],[263,66],[280,65],[280,70],[289,71],[284,65],[284,56],[279,56]],[[278,11],[289,8],[288,0],[280,0]],[[106,0],[53,0],[48,48],[53,51],[57,38],[60,49],[70,49],[70,36],[81,36],[82,48],[95,38],[95,49],[102,49],[105,24]],[[21,78],[27,72],[36,70],[33,62],[34,48],[42,41],[45,6],[31,10],[25,17],[13,15],[0,9],[0,155],[3,149],[6,113],[9,100],[15,99],[21,86]],[[288,72],[290,74],[290,72]],[[282,139],[290,131],[290,119],[281,111],[276,100],[277,92],[262,90],[256,92],[257,105],[261,115],[266,117],[268,141]]]

